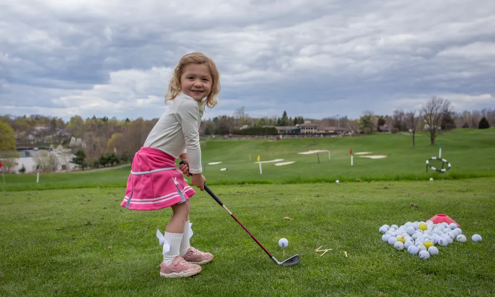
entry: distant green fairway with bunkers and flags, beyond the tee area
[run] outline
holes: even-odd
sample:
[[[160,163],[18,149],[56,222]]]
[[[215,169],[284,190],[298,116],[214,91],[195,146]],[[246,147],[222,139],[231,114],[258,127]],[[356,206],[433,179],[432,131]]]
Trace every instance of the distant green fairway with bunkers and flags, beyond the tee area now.
[[[495,135],[487,130],[456,129],[441,134],[436,142],[442,144],[442,157],[452,164],[445,174],[426,172],[425,161],[438,156],[438,145],[431,146],[426,134],[416,137],[412,147],[408,135],[379,134],[366,137],[304,138],[274,140],[211,140],[202,148],[204,176],[208,185],[245,183],[311,183],[386,180],[464,179],[495,176]],[[387,155],[383,159],[362,158],[354,155],[350,166],[349,150],[353,152],[372,151],[373,154]],[[301,155],[297,152],[312,149],[330,149],[328,153]],[[249,154],[251,160],[249,160]],[[284,159],[296,163],[275,166],[262,164],[263,174],[255,164],[257,155],[262,161]],[[218,162],[218,165],[208,165]],[[439,162],[441,167],[441,162]],[[220,168],[228,168],[220,171]],[[125,187],[130,168],[78,173],[42,174],[36,184],[35,174],[10,174],[5,176],[7,191],[108,188]]]

